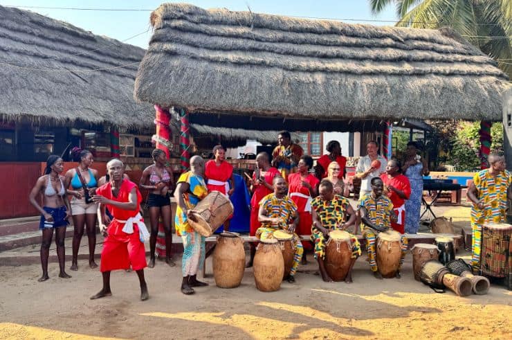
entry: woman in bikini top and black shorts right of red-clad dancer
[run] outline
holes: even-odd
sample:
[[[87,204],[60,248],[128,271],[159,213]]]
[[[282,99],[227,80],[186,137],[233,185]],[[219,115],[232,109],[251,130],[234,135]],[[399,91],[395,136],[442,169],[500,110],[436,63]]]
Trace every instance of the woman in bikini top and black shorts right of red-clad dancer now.
[[[151,238],[149,238],[149,265],[155,266],[156,236],[158,235],[158,219],[162,218],[163,230],[165,231],[165,262],[174,267],[172,260],[172,212],[171,194],[174,190],[174,175],[172,169],[167,165],[167,155],[161,149],[152,152],[153,165],[144,169],[140,177],[139,187],[147,189],[147,206],[149,206],[149,220],[151,222]]]

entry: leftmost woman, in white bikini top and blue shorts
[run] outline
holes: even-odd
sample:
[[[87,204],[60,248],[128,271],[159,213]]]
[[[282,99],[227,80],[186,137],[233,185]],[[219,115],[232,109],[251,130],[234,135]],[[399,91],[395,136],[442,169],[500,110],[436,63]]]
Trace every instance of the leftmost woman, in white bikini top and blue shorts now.
[[[49,156],[46,161],[44,175],[37,179],[28,196],[30,203],[41,213],[39,230],[43,233],[41,243],[43,275],[39,278],[39,282],[48,280],[48,254],[50,253],[53,229],[55,229],[55,244],[57,245],[57,257],[59,258],[59,276],[61,278],[71,278],[64,271],[64,238],[66,236],[66,226],[69,224],[68,218],[71,217],[71,208],[66,196],[66,187],[64,181],[62,181],[64,177],[60,176],[62,170],[64,170],[64,161],[55,154]],[[39,206],[36,200],[39,194],[43,196],[43,207]]]

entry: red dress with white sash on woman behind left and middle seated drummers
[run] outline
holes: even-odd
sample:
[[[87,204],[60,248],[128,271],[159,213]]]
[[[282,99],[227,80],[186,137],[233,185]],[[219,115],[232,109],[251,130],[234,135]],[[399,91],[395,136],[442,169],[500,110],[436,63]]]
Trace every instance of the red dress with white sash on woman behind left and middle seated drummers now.
[[[297,233],[299,235],[311,234],[311,200],[313,199],[309,193],[309,189],[302,186],[301,181],[307,181],[312,188],[318,186],[320,181],[313,175],[307,175],[304,179],[300,173],[290,174],[288,176],[288,195],[295,202],[297,211],[299,213],[299,224],[297,226]],[[313,249],[309,241],[302,242],[304,249]]]

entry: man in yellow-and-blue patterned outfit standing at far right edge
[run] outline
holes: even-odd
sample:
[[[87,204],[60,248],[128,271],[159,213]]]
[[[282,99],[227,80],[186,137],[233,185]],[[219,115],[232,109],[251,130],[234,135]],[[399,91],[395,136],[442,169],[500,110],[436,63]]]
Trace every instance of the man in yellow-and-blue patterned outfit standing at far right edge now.
[[[512,175],[505,170],[504,156],[491,153],[488,156],[490,168],[478,172],[468,188],[471,208],[471,229],[473,238],[471,249],[473,271],[480,270],[482,251],[482,225],[486,223],[504,223],[507,198],[512,199]]]

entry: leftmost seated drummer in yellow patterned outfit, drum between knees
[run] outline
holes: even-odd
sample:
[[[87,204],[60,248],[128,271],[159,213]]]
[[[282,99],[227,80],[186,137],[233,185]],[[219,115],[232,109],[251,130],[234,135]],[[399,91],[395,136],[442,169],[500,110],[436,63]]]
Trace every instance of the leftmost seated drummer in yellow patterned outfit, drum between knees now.
[[[289,233],[293,233],[293,247],[295,255],[293,256],[293,265],[290,275],[285,278],[289,283],[295,282],[295,272],[299,267],[304,248],[300,242],[299,236],[295,233],[295,228],[299,224],[299,215],[297,206],[286,196],[288,185],[283,177],[276,176],[272,181],[274,192],[266,195],[259,202],[258,220],[262,223],[256,231],[256,237],[260,240],[273,238],[276,230],[283,229]]]

